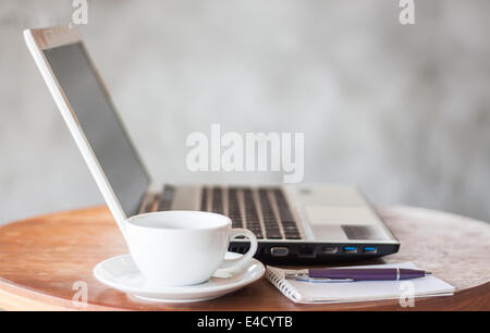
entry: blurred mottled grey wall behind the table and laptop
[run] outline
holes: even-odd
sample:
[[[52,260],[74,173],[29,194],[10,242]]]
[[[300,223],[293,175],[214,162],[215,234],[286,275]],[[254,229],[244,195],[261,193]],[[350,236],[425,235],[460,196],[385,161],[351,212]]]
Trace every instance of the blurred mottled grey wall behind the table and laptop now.
[[[490,220],[490,2],[89,1],[83,35],[157,181],[193,131],[305,132],[305,182]],[[0,223],[102,202],[24,44],[71,1],[0,2]]]

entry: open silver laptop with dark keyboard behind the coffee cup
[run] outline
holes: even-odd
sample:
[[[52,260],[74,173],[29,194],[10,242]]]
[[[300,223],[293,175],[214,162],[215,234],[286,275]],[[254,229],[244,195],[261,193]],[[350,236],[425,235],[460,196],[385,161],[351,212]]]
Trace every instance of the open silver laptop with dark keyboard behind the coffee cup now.
[[[265,263],[354,261],[399,250],[399,240],[351,185],[154,184],[77,29],[27,29],[24,36],[123,235],[124,221],[135,214],[203,210],[253,231],[256,258]],[[248,245],[232,239],[230,250],[245,252]]]

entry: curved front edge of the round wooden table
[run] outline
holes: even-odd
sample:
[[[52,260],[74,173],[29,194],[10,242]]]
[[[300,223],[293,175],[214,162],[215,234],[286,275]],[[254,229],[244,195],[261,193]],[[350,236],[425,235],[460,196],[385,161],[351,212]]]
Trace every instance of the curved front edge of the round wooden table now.
[[[271,286],[272,287],[272,286]],[[366,307],[367,304],[372,306]],[[340,304],[345,305],[345,304]],[[416,311],[490,311],[490,282],[482,285],[470,287],[456,292],[453,296],[422,297],[415,299],[415,307],[403,308],[397,300],[378,300],[378,301],[357,301],[350,303],[351,308],[347,310],[367,310],[367,311],[397,311],[397,310],[416,310]],[[343,307],[335,308],[335,305],[299,305],[295,304],[298,309],[285,309],[285,311],[335,311],[343,310]],[[12,284],[9,281],[0,279],[0,308],[11,311],[127,311],[131,309],[101,306],[97,304],[84,304],[73,301],[66,298],[54,297],[39,293],[30,288],[24,288]],[[186,311],[187,309],[182,309]],[[243,308],[234,310],[249,311],[271,311],[270,307]],[[179,311],[179,309],[177,309]],[[210,309],[210,311],[217,311]]]

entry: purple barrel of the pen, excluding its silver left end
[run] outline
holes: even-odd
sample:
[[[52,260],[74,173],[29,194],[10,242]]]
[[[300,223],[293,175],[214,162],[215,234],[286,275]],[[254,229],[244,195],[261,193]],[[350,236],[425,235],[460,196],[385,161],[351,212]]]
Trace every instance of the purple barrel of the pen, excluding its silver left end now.
[[[309,278],[354,281],[393,281],[425,276],[424,271],[411,269],[310,269]]]

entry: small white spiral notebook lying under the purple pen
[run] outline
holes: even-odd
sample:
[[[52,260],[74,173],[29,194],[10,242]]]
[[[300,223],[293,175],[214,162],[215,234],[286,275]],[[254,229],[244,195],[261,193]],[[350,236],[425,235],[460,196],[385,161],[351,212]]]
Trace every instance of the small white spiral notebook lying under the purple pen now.
[[[366,268],[357,266],[352,268]],[[369,268],[418,269],[412,262],[394,264],[373,264]],[[294,303],[329,304],[378,299],[399,299],[401,297],[451,296],[455,288],[433,276],[404,281],[356,281],[334,283],[310,283],[285,279],[289,270],[267,267],[267,279]]]

